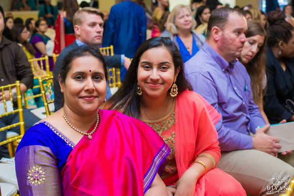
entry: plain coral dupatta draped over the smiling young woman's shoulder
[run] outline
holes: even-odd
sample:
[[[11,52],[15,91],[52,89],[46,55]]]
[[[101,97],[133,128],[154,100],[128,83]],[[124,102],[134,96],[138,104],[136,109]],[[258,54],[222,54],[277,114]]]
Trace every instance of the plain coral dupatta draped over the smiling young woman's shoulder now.
[[[187,112],[189,111],[189,112]],[[211,154],[216,164],[220,159],[218,135],[214,125],[220,114],[199,94],[184,91],[175,101],[175,159],[178,178],[191,167],[200,153]],[[204,195],[205,176],[196,184],[195,195]]]

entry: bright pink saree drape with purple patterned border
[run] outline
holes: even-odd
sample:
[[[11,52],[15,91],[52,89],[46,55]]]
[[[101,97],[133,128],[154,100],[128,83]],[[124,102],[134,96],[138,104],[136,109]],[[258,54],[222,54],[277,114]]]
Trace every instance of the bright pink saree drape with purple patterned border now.
[[[169,147],[136,119],[113,110],[99,115],[93,139],[84,136],[61,171],[63,194],[143,195],[162,173]]]

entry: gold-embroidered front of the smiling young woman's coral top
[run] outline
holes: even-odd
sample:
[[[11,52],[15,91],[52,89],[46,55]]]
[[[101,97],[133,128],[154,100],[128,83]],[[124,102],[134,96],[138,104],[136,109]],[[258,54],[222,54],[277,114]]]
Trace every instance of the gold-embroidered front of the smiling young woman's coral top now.
[[[156,122],[154,123],[154,125],[150,123],[146,123],[146,124],[152,127],[163,138],[162,132],[169,130],[175,124],[174,114],[175,114],[175,110],[173,108],[170,116],[167,117],[167,119],[161,122]],[[162,178],[164,179],[177,173],[176,162],[175,162],[175,132],[173,131],[171,136],[167,138],[163,138],[163,140],[170,148],[170,153],[166,158],[166,166],[162,174]]]

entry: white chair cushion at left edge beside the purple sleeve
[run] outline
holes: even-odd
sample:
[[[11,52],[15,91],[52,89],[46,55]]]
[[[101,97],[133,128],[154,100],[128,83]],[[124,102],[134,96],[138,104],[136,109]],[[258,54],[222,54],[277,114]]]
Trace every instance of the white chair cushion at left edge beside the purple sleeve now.
[[[0,182],[13,184],[17,190],[19,190],[15,172],[15,164],[0,163]]]

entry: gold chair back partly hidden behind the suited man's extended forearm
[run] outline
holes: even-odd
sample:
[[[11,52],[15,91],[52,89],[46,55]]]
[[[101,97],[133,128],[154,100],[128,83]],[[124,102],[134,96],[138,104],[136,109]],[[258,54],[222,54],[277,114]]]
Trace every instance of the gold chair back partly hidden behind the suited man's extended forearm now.
[[[114,56],[114,46],[100,48],[100,52],[105,56]],[[121,72],[119,68],[108,68],[108,82],[110,88],[121,86]]]

